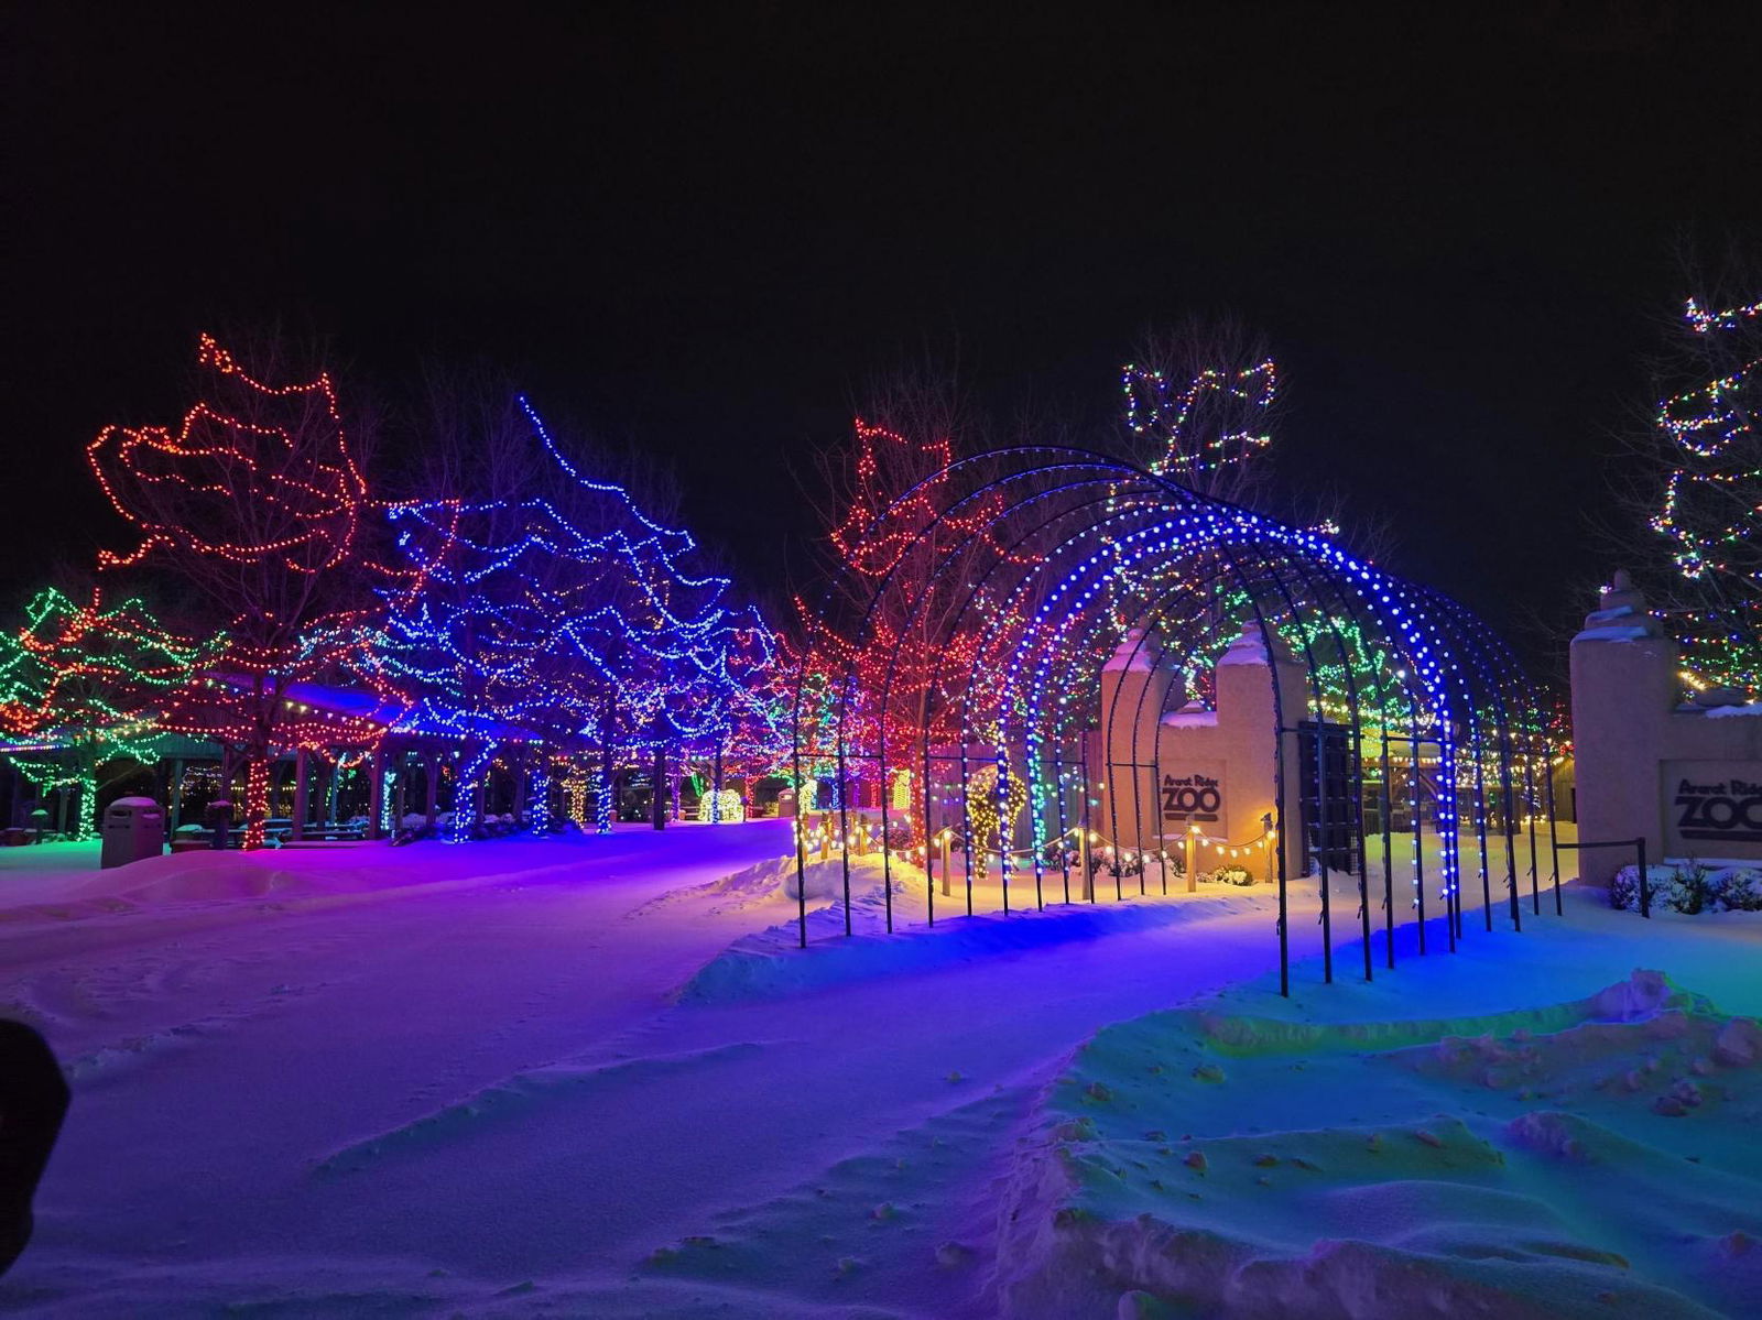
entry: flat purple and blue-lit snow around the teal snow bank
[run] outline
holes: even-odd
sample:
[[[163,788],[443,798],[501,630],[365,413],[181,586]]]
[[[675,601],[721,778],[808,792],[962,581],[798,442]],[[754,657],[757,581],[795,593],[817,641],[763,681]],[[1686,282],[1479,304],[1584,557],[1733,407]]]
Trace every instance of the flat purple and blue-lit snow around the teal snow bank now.
[[[1101,938],[1018,918],[983,955],[997,925],[953,922],[927,969],[673,1003],[793,909],[680,890],[786,846],[775,823],[416,846],[379,855],[421,881],[396,890],[331,876],[11,913],[0,1003],[42,1024],[76,1094],[0,1304],[988,1313],[985,1216],[1038,1091],[1098,1027],[1272,968],[1270,894],[1138,904]],[[1299,952],[1311,920],[1293,920]],[[1637,964],[1688,966],[1707,932],[1684,925],[1575,908],[1533,938],[1470,931],[1457,959],[1403,959],[1369,994],[1394,1015],[1589,994]],[[1730,938],[1753,952],[1751,932]],[[1753,976],[1677,975],[1762,1010]],[[1300,1003],[1329,994],[1314,982],[1299,969]]]

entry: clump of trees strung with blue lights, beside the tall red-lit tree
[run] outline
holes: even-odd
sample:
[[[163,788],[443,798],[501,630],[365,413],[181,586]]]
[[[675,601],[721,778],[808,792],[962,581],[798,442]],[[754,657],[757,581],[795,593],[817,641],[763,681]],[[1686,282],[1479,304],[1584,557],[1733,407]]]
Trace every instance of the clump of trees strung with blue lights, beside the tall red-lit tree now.
[[[509,749],[592,761],[610,828],[617,756],[775,740],[761,691],[770,633],[731,604],[728,578],[687,569],[691,534],[583,476],[523,398],[474,421],[481,478],[469,485],[490,497],[389,508],[407,576],[358,661],[403,705],[396,730],[463,744],[453,835],[470,834]]]

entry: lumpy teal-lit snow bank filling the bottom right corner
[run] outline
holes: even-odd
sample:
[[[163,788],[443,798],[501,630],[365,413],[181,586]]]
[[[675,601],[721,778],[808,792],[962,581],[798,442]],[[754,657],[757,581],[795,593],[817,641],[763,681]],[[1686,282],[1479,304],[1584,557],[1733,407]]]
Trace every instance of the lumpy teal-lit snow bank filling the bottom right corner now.
[[[1018,1316],[1737,1313],[1762,1295],[1758,1117],[1762,1027],[1656,971],[1462,1020],[1152,1013],[1048,1091],[1001,1216],[1003,1299]]]

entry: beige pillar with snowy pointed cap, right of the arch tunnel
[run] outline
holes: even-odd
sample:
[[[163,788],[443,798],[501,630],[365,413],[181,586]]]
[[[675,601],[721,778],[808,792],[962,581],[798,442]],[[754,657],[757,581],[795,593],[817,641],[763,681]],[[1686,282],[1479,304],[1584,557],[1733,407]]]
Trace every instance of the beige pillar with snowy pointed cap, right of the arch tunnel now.
[[[1572,747],[1579,788],[1579,837],[1586,842],[1646,835],[1651,858],[1665,855],[1658,797],[1670,714],[1681,694],[1676,641],[1663,636],[1626,573],[1598,597],[1572,640]],[[1619,848],[1563,855],[1563,871],[1607,885],[1633,860]]]

